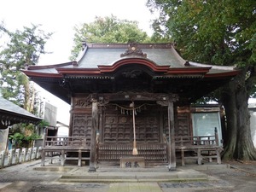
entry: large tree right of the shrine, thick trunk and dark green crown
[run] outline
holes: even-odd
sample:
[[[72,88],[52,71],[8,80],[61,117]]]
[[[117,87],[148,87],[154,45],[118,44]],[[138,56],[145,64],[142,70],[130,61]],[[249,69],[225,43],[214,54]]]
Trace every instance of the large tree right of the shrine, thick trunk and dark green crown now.
[[[256,2],[251,0],[148,0],[158,35],[170,36],[187,60],[232,65],[236,79],[218,90],[227,127],[224,160],[256,160],[247,101],[255,90]]]

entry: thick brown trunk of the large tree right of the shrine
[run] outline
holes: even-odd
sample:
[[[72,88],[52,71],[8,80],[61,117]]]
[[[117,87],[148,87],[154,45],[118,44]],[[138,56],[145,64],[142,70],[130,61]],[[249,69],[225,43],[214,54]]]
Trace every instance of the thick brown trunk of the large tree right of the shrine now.
[[[247,107],[246,72],[247,69],[244,69],[236,79],[225,85],[222,93],[227,118],[223,160],[256,160]]]

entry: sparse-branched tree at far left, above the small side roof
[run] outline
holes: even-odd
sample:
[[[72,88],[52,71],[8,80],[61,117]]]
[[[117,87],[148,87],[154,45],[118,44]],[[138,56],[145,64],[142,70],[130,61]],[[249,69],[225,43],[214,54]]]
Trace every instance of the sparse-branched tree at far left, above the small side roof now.
[[[0,32],[7,35],[9,39],[0,51],[2,95],[34,113],[35,90],[20,69],[26,68],[26,65],[38,63],[39,56],[46,53],[44,45],[51,37],[51,33],[45,33],[35,25],[24,26],[22,31],[10,32],[3,23],[0,25]]]

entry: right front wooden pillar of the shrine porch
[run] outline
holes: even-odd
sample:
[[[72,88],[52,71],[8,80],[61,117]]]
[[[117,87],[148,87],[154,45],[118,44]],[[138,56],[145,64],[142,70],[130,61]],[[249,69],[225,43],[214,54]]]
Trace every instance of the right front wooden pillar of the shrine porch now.
[[[175,131],[174,131],[174,111],[173,102],[168,102],[168,128],[169,128],[169,171],[176,170],[175,153]]]

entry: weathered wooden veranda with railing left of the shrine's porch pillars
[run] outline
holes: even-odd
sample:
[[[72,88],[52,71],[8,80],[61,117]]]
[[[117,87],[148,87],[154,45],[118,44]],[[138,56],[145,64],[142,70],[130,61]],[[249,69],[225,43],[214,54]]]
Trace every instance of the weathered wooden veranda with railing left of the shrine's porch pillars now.
[[[41,166],[44,166],[46,154],[49,154],[50,163],[53,155],[59,154],[61,166],[64,166],[65,160],[78,160],[78,166],[81,166],[82,160],[90,159],[89,156],[83,157],[83,152],[90,152],[90,137],[44,137]]]

